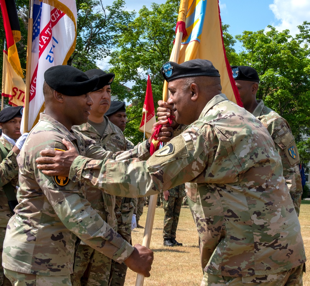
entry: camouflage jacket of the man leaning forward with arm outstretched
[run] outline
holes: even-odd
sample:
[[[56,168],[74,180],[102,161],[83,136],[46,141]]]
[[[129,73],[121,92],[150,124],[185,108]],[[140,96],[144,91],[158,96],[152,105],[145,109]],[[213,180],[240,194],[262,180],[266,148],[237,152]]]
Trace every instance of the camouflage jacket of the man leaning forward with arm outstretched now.
[[[69,177],[110,193],[119,187],[127,197],[190,182],[188,197],[200,210],[193,208],[200,239],[214,245],[208,273],[268,275],[306,261],[274,143],[259,120],[224,94],[146,162],[78,156]]]

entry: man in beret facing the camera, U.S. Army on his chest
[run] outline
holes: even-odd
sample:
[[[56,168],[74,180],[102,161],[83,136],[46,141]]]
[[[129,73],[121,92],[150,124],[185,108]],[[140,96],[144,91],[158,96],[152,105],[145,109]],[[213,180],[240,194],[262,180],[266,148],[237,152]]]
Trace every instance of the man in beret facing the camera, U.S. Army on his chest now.
[[[125,151],[126,140],[122,131],[109,121],[105,113],[108,111],[111,103],[111,87],[114,74],[105,73],[100,69],[87,70],[86,75],[99,76],[99,83],[90,93],[94,104],[88,117],[88,122],[74,129],[81,132],[84,136],[94,140],[97,146],[103,147],[111,152]],[[101,218],[106,221],[115,231],[119,231],[118,224],[121,224],[120,204],[122,197],[111,196],[94,188],[86,187],[86,198],[90,202]],[[117,202],[117,204],[116,204]],[[124,237],[122,235],[124,239]],[[131,242],[127,240],[127,242]],[[126,265],[125,265],[126,266]],[[74,273],[71,275],[73,286],[86,285],[108,285],[111,271],[111,258],[89,247],[86,243],[81,242],[78,246]]]

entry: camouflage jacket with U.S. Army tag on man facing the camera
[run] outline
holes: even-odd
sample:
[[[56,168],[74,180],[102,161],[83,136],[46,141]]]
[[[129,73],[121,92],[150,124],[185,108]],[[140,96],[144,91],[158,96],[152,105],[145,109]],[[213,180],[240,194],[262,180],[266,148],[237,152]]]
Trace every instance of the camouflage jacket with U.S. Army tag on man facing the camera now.
[[[89,123],[80,126],[73,126],[73,129],[81,132],[84,136],[91,138],[96,142],[97,146],[103,147],[107,151],[113,153],[117,151],[125,151],[126,140],[122,130],[110,122],[107,116],[104,116],[104,120],[107,121],[107,127],[102,136]],[[98,212],[101,218],[117,231],[117,220],[114,213],[115,196],[107,194],[93,186],[86,186],[86,199],[90,202],[91,207]]]

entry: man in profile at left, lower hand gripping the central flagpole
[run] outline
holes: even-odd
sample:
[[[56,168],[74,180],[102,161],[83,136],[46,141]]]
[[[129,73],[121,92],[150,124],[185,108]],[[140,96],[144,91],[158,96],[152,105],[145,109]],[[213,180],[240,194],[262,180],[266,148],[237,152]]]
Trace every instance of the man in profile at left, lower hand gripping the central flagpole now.
[[[3,245],[5,275],[12,284],[22,286],[71,285],[79,239],[115,261],[125,261],[134,271],[149,275],[153,260],[150,250],[139,245],[132,247],[91,208],[85,199],[85,183],[64,176],[51,177],[37,169],[40,151],[65,150],[63,138],[72,142],[81,155],[111,154],[71,130],[72,125],[87,122],[93,103],[87,92],[97,85],[98,76],[89,79],[72,66],[54,66],[44,78],[46,114],[40,114],[40,121],[29,133],[18,157],[19,204],[9,220]],[[132,153],[127,152],[127,156]],[[147,268],[137,265],[142,261]]]

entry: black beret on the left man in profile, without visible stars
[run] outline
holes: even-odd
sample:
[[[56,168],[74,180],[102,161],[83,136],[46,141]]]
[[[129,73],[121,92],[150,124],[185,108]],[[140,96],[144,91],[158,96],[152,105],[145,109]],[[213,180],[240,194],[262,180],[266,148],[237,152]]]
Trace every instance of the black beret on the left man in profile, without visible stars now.
[[[73,66],[52,66],[44,73],[44,80],[55,91],[67,96],[80,96],[91,92],[99,81],[98,76],[89,78]]]

